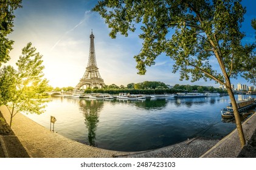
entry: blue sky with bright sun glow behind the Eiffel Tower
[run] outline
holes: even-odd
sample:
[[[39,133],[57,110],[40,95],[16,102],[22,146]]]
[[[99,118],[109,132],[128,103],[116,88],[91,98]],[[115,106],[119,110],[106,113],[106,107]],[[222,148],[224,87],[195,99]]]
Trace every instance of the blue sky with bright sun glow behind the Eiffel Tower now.
[[[97,1],[92,0],[33,0],[22,2],[22,9],[15,11],[14,32],[9,35],[15,41],[8,64],[15,66],[21,49],[27,42],[32,42],[38,52],[43,55],[44,74],[50,86],[76,86],[85,73],[89,56],[89,35],[93,30],[95,54],[99,72],[105,84],[117,84],[143,81],[162,81],[166,84],[196,84],[215,86],[214,81],[179,81],[179,73],[171,72],[173,61],[161,55],[154,66],[147,68],[145,75],[137,75],[137,55],[142,47],[138,38],[139,29],[128,37],[117,35],[111,39],[110,30],[98,13],[90,10]],[[255,31],[251,27],[251,19],[256,18],[256,1],[243,1],[247,8],[244,15],[243,31],[246,32],[244,42],[255,41]],[[243,79],[232,80],[232,84],[247,84]]]

